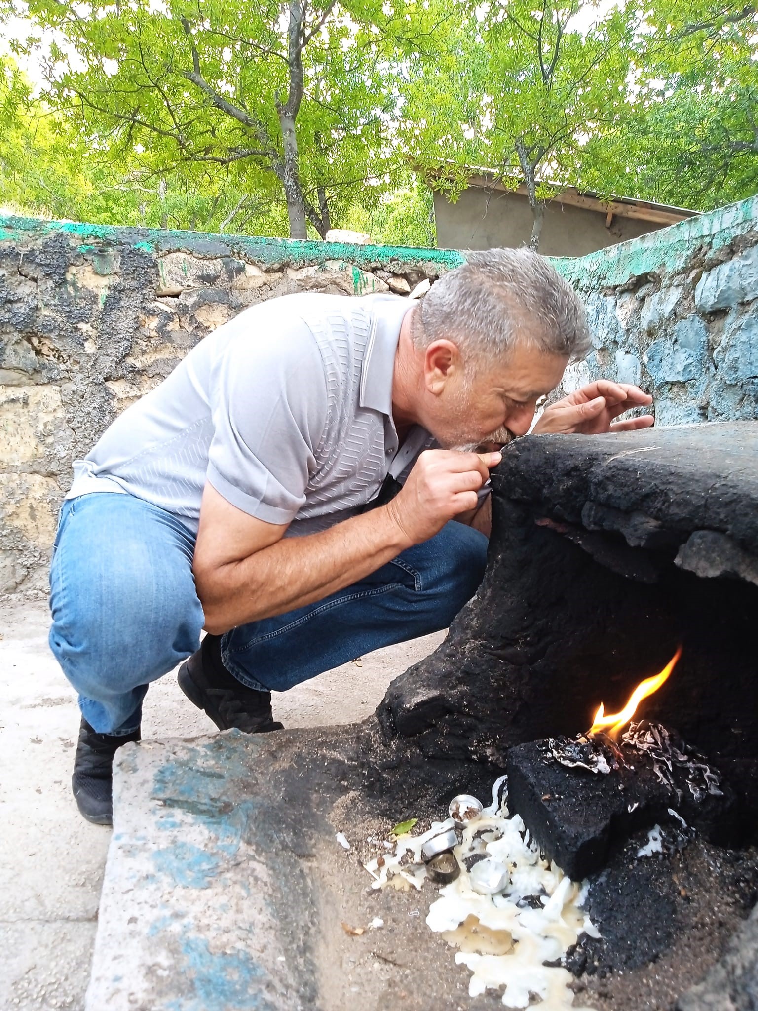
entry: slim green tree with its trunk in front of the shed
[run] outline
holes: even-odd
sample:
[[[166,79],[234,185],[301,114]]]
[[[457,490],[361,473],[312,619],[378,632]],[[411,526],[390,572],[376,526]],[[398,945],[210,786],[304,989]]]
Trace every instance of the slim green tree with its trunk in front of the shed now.
[[[546,202],[563,186],[581,183],[590,137],[617,128],[629,114],[626,81],[638,44],[637,14],[631,6],[615,8],[581,28],[580,16],[593,6],[580,0],[464,3],[451,39],[453,59],[424,68],[405,91],[403,136],[415,162],[438,185],[442,179],[453,198],[471,166],[495,170],[496,181],[508,187],[524,182],[533,249]]]

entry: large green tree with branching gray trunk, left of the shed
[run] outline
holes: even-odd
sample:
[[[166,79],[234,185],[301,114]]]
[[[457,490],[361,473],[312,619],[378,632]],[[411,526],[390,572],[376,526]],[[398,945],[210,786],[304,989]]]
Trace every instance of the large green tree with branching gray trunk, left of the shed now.
[[[422,5],[404,0],[28,0],[24,10],[58,39],[43,97],[91,145],[144,183],[210,174],[240,201],[283,193],[296,239],[308,224],[325,235],[367,179],[386,176],[395,97],[384,78],[428,30]]]

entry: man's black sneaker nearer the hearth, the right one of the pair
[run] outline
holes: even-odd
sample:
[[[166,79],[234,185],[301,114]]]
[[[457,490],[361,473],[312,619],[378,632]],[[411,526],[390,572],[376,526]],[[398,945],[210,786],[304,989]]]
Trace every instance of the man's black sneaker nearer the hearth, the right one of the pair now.
[[[271,712],[271,693],[246,687],[221,662],[221,637],[206,635],[196,653],[179,668],[179,687],[219,730],[236,727],[247,734],[283,730]]]

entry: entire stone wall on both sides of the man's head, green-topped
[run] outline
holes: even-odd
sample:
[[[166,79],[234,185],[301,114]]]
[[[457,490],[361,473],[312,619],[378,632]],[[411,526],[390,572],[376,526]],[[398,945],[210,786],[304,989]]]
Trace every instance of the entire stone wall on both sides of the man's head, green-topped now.
[[[758,200],[578,260],[595,347],[565,389],[641,382],[659,423],[758,417]],[[44,586],[71,463],[214,327],[293,291],[407,295],[449,250],[0,217],[0,592]]]

